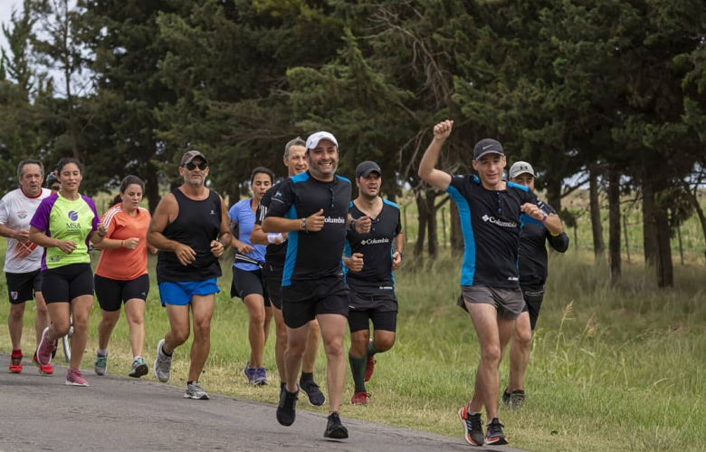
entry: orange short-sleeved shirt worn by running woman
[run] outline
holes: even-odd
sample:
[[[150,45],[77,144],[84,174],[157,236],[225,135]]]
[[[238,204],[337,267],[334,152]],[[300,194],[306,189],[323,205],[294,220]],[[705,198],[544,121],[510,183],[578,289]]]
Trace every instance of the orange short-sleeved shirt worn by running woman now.
[[[118,248],[100,251],[96,274],[119,281],[129,281],[147,274],[148,247],[147,231],[151,216],[146,208],[138,207],[136,216],[129,216],[122,209],[122,203],[110,207],[100,221],[108,230],[106,238],[127,240],[138,237],[135,249]]]

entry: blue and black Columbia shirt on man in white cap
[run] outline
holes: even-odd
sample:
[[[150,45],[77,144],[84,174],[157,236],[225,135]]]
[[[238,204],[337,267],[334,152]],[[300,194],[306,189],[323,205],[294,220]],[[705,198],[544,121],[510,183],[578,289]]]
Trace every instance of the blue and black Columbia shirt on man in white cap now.
[[[341,256],[346,244],[350,180],[336,176],[330,182],[312,178],[309,171],[281,182],[272,195],[267,216],[305,218],[323,209],[324,226],[318,232],[289,233],[282,287],[342,275]]]

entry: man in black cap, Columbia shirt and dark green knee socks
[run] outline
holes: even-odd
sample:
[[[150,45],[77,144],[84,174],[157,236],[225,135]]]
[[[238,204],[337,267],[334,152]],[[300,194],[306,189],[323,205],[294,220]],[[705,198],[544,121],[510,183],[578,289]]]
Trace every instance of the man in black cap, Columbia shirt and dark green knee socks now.
[[[364,161],[356,169],[358,197],[350,203],[353,219],[343,259],[348,268],[346,282],[350,289],[348,362],[355,383],[350,400],[353,405],[367,404],[370,395],[365,382],[373,374],[376,362],[373,357],[395,344],[397,298],[392,272],[402,264],[405,239],[399,206],[379,196],[381,175],[380,167],[373,161]],[[360,217],[373,218],[367,234],[358,234],[355,230]],[[372,340],[370,321],[374,331]]]

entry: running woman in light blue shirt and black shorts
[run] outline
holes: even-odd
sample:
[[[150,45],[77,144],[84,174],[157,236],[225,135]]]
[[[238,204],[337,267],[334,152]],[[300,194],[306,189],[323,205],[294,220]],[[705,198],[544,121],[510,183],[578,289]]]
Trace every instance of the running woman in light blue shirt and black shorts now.
[[[267,246],[252,245],[250,233],[255,224],[255,211],[264,193],[272,187],[273,181],[274,173],[270,169],[262,167],[253,169],[250,177],[253,197],[236,203],[228,212],[231,225],[238,227],[238,238],[234,238],[232,243],[238,253],[235,255],[233,264],[231,296],[243,299],[250,316],[248,328],[250,361],[245,364],[243,374],[248,383],[255,386],[267,384],[267,371],[264,369],[262,354],[270,332],[272,304],[262,284],[261,265],[264,262]]]

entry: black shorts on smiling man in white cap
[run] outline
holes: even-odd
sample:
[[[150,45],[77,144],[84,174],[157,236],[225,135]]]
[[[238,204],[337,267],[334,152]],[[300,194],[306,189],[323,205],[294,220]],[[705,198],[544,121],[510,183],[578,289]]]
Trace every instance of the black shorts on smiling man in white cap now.
[[[319,314],[348,317],[348,286],[339,276],[292,281],[281,288],[281,299],[284,324],[290,328],[300,328]]]

